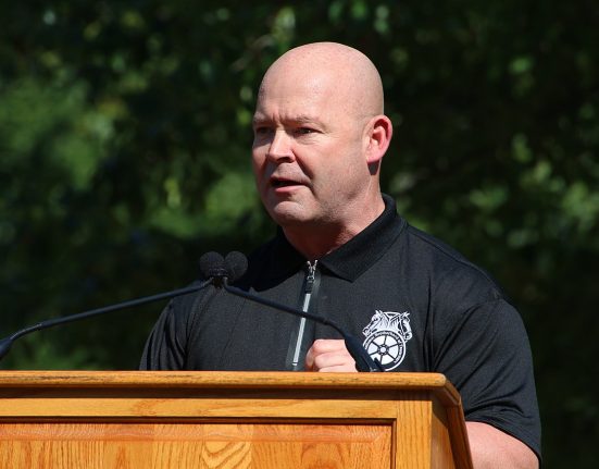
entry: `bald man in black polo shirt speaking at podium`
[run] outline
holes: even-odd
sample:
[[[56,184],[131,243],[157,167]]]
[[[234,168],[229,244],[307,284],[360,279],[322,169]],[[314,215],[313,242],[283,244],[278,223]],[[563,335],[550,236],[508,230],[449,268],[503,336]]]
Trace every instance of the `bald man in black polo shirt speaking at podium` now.
[[[475,467],[537,467],[526,333],[494,282],[401,219],[382,195],[392,135],[378,72],[321,42],[266,72],[252,162],[277,236],[237,286],[326,316],[388,371],[445,373],[462,394]],[[173,300],[142,369],[355,371],[335,331],[209,288]]]

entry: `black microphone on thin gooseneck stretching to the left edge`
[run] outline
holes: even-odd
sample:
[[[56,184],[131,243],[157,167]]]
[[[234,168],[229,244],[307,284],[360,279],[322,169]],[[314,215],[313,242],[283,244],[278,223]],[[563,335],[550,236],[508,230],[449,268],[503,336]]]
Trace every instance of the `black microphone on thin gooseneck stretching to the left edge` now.
[[[225,261],[220,254],[207,252],[200,258],[200,266],[202,272],[208,272],[208,280],[201,282],[199,285],[191,285],[185,288],[174,289],[172,292],[159,293],[157,295],[145,296],[137,299],[130,299],[128,301],[118,303],[116,305],[105,306],[103,308],[91,309],[89,311],[79,312],[78,314],[65,316],[63,318],[55,318],[46,321],[38,322],[29,328],[22,329],[14,334],[4,337],[0,341],[0,360],[10,351],[12,344],[17,340],[35,331],[41,331],[43,329],[50,329],[54,325],[66,324],[68,322],[78,321],[80,319],[91,318],[93,316],[104,314],[107,312],[117,311],[125,308],[133,308],[134,306],[146,305],[152,301],[159,301],[161,299],[171,299],[177,296],[187,295],[188,293],[198,292],[210,284],[217,284],[216,279],[224,279],[227,275],[227,269]]]

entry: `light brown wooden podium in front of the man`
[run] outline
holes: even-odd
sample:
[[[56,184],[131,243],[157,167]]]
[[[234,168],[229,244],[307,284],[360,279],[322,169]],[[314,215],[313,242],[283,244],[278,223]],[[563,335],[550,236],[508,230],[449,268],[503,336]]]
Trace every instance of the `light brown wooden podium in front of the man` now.
[[[442,374],[0,372],[0,468],[471,467]]]

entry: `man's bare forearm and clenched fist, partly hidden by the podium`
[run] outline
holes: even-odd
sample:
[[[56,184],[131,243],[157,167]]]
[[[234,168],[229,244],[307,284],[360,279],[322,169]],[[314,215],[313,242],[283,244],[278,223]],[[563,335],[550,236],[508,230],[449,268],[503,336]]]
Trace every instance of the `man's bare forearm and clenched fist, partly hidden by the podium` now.
[[[320,338],[305,356],[308,371],[355,371],[345,341]],[[520,440],[487,423],[466,422],[474,469],[536,469],[535,453]]]

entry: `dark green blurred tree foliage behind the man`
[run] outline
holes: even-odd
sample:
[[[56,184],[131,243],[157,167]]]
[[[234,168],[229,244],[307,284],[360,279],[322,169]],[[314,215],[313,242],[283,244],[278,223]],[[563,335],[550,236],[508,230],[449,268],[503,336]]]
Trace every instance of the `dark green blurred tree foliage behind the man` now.
[[[489,270],[533,346],[546,468],[599,458],[599,3],[0,2],[0,335],[184,286],[273,225],[254,92],[292,46],[378,66],[384,190]],[[412,4],[410,4],[412,3]],[[162,304],[30,335],[3,369],[134,369]]]

